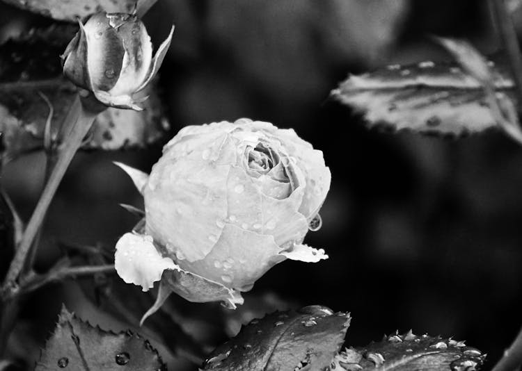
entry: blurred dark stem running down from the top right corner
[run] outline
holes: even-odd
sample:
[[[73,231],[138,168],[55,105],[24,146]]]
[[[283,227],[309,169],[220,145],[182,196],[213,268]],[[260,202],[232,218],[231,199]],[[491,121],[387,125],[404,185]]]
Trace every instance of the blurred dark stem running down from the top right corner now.
[[[522,102],[522,53],[519,40],[516,38],[513,19],[507,12],[504,0],[491,0],[491,10],[493,19],[496,21],[500,42],[509,58],[509,68],[515,81],[518,100]],[[520,110],[522,110],[521,105],[519,105],[519,112]]]

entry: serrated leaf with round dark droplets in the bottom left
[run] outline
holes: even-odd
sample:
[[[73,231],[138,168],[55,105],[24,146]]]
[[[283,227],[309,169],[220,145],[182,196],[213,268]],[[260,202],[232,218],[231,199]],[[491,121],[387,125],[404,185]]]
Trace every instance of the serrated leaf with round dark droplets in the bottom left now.
[[[141,336],[103,331],[63,307],[35,371],[157,371],[164,367],[156,349]]]

